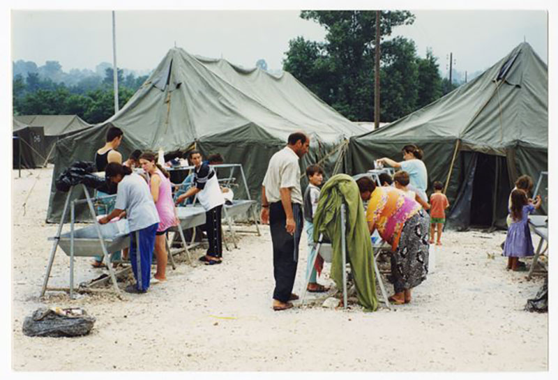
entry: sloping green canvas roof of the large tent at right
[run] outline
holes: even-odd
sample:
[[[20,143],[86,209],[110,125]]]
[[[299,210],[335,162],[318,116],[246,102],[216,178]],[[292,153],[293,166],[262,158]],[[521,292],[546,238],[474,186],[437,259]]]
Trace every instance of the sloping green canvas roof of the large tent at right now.
[[[548,148],[547,66],[521,43],[471,82],[377,131],[391,142],[460,139],[462,149],[504,154],[515,144]]]

